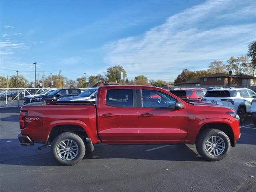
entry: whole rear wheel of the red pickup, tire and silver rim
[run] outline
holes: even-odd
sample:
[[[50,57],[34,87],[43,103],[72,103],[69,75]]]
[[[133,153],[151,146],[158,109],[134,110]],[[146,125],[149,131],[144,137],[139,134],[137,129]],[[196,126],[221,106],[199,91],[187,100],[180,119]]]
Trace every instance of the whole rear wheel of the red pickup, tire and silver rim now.
[[[77,164],[85,154],[84,140],[77,134],[64,132],[52,142],[52,156],[64,166]]]

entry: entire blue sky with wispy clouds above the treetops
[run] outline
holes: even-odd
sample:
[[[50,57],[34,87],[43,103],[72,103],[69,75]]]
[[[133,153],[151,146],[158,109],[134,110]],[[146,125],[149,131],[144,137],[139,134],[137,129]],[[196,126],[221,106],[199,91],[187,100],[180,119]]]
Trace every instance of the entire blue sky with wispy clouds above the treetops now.
[[[173,81],[184,69],[247,53],[256,1],[1,1],[1,76],[69,79],[124,66],[128,79]],[[9,70],[3,70],[9,69]]]

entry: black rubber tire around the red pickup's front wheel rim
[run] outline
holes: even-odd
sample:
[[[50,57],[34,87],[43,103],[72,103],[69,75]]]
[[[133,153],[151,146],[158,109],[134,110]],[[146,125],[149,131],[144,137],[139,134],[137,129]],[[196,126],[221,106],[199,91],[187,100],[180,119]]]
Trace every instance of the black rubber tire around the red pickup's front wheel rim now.
[[[217,136],[217,138],[222,138],[225,147],[223,152],[218,156],[212,156],[207,151],[206,141],[212,136]],[[210,146],[212,147],[212,146]],[[216,147],[217,148],[217,147]],[[230,140],[228,136],[221,130],[218,129],[207,129],[202,131],[196,138],[196,150],[197,152],[208,161],[219,161],[225,158],[230,150]],[[215,154],[215,152],[214,152]]]

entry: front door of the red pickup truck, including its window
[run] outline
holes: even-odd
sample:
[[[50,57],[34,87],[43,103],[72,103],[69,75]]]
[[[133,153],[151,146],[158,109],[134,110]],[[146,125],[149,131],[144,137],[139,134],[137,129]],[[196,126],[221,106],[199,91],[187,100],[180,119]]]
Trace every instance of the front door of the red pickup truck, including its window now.
[[[139,140],[148,142],[184,142],[188,132],[186,108],[176,109],[176,99],[156,90],[141,90],[138,108]]]

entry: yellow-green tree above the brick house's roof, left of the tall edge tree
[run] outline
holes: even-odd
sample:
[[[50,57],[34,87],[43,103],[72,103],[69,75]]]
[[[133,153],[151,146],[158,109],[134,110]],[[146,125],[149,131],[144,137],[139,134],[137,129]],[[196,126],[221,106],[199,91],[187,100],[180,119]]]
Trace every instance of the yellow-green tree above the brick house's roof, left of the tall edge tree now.
[[[227,65],[228,70],[232,70],[236,75],[239,74],[250,74],[250,63],[248,62],[248,56],[241,56],[234,58],[231,56]]]

